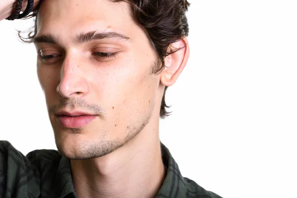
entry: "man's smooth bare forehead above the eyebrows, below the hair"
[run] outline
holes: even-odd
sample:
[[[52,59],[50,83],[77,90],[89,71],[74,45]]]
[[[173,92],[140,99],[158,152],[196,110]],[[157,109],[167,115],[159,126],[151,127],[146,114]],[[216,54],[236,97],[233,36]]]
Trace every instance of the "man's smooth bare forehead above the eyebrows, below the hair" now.
[[[126,4],[109,0],[43,0],[37,17],[37,35],[74,37],[91,31],[129,35],[127,31],[135,24]]]

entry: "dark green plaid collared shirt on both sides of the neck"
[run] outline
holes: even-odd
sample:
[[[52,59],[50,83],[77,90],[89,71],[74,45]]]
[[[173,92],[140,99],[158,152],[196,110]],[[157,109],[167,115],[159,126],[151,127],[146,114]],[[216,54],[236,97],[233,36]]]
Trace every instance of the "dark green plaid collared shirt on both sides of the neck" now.
[[[221,198],[181,175],[162,145],[166,178],[157,198]],[[57,150],[34,150],[24,156],[0,141],[0,198],[76,198],[69,159]]]

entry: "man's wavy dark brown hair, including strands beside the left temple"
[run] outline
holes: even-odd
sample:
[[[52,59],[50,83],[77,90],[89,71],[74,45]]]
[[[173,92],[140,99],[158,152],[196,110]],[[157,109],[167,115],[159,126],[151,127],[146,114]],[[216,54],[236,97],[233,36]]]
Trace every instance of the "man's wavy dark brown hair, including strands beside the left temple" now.
[[[182,40],[189,34],[186,11],[190,3],[188,0],[110,0],[113,2],[125,1],[131,6],[131,15],[135,22],[145,31],[148,41],[155,51],[160,66],[152,68],[152,72],[157,74],[165,68],[164,58],[179,49],[171,49],[170,44]],[[38,8],[26,18],[36,17]],[[19,38],[25,43],[32,43],[36,35],[35,26],[30,29],[26,37]],[[165,118],[171,112],[167,112],[165,93],[161,101],[160,117]]]

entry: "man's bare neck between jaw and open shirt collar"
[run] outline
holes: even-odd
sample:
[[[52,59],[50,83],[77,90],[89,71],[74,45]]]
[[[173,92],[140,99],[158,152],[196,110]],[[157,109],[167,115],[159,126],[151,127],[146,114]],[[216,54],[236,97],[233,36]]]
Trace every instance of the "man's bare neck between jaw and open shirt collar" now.
[[[142,131],[105,156],[71,160],[77,198],[155,197],[166,173],[158,136],[151,135]]]

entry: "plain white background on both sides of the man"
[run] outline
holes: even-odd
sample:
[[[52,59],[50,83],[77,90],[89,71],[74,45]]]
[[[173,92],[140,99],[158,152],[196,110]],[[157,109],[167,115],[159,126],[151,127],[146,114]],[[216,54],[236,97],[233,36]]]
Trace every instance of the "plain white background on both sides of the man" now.
[[[191,0],[191,54],[160,139],[185,177],[224,198],[297,198],[297,1]],[[0,139],[55,149],[33,45],[0,22]]]

